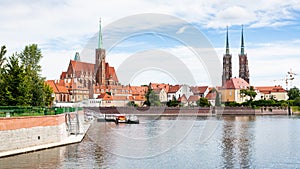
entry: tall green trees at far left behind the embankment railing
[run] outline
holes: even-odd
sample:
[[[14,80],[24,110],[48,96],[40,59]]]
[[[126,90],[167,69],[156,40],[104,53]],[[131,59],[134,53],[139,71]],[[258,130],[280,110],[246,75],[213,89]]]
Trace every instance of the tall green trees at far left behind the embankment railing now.
[[[2,52],[3,50],[5,48],[2,47],[1,55],[6,53],[6,50]],[[0,105],[48,106],[51,104],[53,91],[40,75],[41,58],[42,53],[35,44],[26,46],[21,53],[9,57],[8,63],[1,70]]]

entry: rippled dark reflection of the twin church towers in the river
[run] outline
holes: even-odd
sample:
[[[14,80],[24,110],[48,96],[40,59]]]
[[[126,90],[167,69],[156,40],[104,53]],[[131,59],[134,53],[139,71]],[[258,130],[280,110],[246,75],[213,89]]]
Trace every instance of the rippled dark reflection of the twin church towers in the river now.
[[[224,168],[247,168],[251,165],[254,136],[249,129],[255,116],[224,117],[222,157]]]

